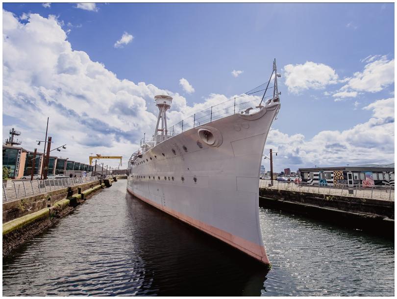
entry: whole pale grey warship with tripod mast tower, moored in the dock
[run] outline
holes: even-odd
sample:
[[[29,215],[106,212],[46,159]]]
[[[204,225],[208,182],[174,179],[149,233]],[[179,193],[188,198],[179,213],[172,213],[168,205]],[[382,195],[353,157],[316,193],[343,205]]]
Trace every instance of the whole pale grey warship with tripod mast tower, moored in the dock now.
[[[173,98],[155,96],[157,124],[128,160],[127,191],[270,265],[258,193],[266,138],[280,109],[280,76],[274,59],[269,81],[172,127]]]

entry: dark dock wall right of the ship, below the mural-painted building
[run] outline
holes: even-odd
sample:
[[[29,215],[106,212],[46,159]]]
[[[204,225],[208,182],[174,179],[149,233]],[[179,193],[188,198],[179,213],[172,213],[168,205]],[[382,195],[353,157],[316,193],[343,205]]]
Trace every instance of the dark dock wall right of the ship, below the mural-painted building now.
[[[259,205],[394,236],[394,201],[261,188]]]

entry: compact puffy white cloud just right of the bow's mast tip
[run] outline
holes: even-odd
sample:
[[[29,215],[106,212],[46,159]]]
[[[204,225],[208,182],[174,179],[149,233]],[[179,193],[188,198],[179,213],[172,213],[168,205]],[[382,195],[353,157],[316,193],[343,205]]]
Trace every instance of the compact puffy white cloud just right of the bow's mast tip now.
[[[323,89],[328,84],[338,82],[335,70],[325,64],[312,61],[304,64],[287,64],[283,72],[288,91],[295,94],[309,88]]]

